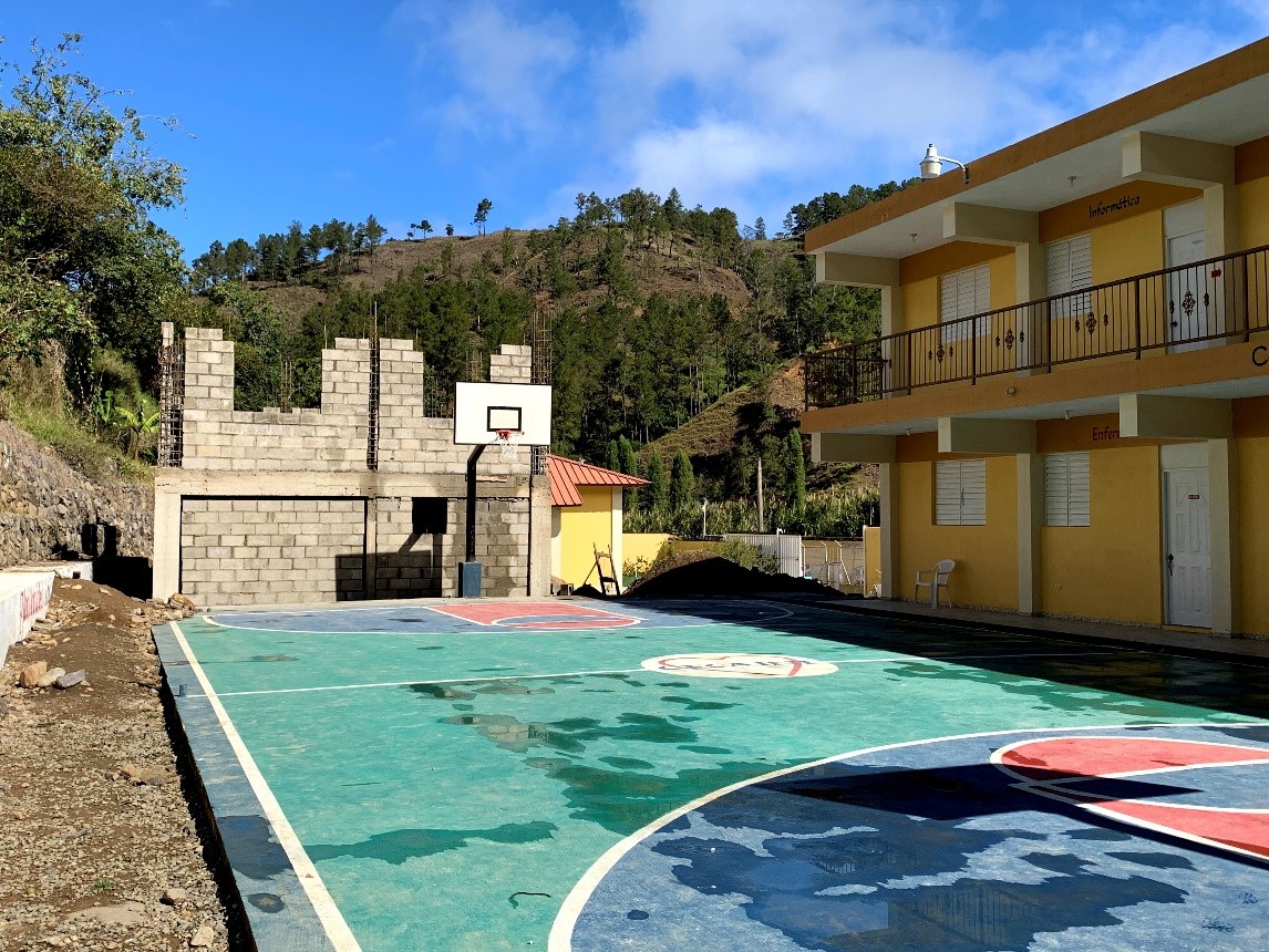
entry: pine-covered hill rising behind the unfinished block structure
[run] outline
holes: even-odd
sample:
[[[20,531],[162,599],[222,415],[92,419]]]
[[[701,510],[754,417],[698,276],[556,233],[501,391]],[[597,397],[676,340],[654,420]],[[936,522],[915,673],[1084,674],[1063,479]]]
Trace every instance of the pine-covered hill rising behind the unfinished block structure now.
[[[827,193],[784,225],[801,231],[895,188]],[[490,207],[477,206],[477,225]],[[438,391],[478,377],[500,344],[529,341],[538,320],[556,449],[590,459],[619,437],[657,439],[807,349],[876,333],[876,292],[817,286],[797,239],[768,239],[761,220],[687,208],[676,190],[577,195],[576,207],[532,231],[423,237],[423,221],[381,242],[372,216],[216,242],[194,263],[199,319],[239,341],[244,407],[312,402],[322,344],[376,320],[416,340]]]

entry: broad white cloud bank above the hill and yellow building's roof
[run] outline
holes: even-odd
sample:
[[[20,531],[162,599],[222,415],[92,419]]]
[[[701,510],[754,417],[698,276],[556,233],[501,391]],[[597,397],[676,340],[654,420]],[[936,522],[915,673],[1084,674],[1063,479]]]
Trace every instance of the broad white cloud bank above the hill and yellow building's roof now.
[[[530,1],[412,0],[396,22],[452,83],[448,129],[556,149],[548,218],[638,185],[770,222],[791,194],[914,175],[926,142],[971,161],[1269,29],[1269,0],[1089,4],[1082,32],[1039,36],[1004,0],[621,0],[599,39]]]

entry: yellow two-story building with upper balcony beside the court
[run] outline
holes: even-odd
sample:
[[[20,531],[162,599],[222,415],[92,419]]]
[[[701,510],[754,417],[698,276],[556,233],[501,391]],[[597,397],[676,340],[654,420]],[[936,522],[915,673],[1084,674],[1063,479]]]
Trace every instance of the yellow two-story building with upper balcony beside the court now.
[[[802,429],[881,463],[883,597],[1269,636],[1269,39],[805,242],[881,288]]]

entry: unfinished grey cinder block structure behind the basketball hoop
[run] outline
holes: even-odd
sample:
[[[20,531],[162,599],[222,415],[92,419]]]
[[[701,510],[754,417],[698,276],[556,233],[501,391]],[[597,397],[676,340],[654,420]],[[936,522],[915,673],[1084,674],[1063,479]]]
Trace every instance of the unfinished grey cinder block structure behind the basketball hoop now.
[[[321,409],[233,409],[233,343],[165,324],[155,479],[156,597],[280,604],[456,594],[468,448],[424,415],[411,340],[338,338]],[[490,381],[528,383],[504,345]],[[489,595],[549,590],[551,491],[528,448],[480,463],[477,560]]]

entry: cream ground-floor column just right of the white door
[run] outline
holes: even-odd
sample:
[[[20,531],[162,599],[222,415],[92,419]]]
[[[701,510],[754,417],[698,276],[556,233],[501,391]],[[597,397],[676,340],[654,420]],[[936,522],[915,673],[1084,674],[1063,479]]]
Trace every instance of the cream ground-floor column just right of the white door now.
[[[1209,439],[1208,538],[1212,546],[1212,633],[1242,630],[1242,532],[1239,499],[1239,444]]]

